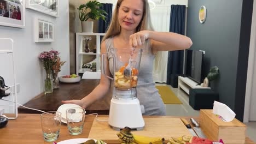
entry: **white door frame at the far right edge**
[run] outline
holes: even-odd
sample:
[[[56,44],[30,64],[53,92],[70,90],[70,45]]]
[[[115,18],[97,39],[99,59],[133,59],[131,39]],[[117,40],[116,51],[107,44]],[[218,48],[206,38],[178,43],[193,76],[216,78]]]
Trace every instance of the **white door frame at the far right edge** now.
[[[256,0],[253,2],[253,14],[252,14],[252,27],[251,38],[249,46],[248,68],[247,68],[247,80],[246,80],[246,94],[245,94],[245,110],[243,114],[243,122],[249,122],[250,110],[251,110],[251,98],[252,98],[252,86],[254,74],[254,56],[256,51]]]

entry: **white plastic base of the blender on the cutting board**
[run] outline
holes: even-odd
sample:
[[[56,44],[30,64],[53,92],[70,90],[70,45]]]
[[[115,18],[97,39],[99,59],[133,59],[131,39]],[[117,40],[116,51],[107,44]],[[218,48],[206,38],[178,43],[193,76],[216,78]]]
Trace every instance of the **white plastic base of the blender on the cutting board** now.
[[[145,122],[138,98],[133,100],[111,99],[108,124],[114,130],[125,127],[142,130]]]

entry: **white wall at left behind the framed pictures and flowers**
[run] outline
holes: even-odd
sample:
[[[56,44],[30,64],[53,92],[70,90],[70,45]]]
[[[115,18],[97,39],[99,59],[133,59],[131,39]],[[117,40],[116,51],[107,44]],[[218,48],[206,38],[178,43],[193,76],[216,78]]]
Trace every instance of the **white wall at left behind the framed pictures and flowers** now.
[[[20,83],[20,92],[18,93],[18,103],[20,104],[25,104],[44,91],[45,71],[38,58],[40,52],[49,51],[51,48],[59,51],[61,60],[66,61],[61,68],[60,75],[69,74],[69,3],[68,0],[60,0],[59,2],[59,17],[57,18],[25,9],[25,28],[0,26],[0,38],[14,40],[14,62],[16,82]],[[54,22],[55,38],[53,43],[34,43],[33,25],[35,17]],[[5,61],[1,55],[0,59],[1,63]],[[0,76],[1,71],[7,69],[10,67],[0,67]],[[3,101],[0,100],[0,105],[2,103]]]

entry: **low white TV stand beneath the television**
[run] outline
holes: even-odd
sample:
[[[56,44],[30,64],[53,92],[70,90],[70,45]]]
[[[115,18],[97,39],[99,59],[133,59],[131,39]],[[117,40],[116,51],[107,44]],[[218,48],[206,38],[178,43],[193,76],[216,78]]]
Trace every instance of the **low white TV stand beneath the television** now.
[[[184,92],[189,94],[190,88],[201,88],[201,89],[211,89],[210,87],[201,87],[195,81],[189,79],[189,77],[178,76],[178,88],[183,89]]]

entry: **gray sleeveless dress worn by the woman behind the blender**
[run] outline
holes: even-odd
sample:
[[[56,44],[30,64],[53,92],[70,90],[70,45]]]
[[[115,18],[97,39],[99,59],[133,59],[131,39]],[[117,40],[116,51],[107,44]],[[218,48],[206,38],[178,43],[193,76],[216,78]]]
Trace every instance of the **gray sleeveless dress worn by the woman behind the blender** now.
[[[106,51],[109,61],[109,70],[113,75],[113,58],[110,54],[110,49],[114,47],[113,37],[105,40]],[[155,56],[152,53],[151,47],[143,50],[141,57],[141,65],[139,66],[138,84],[137,84],[137,97],[139,103],[144,107],[145,113],[143,115],[166,115],[165,105],[155,88],[153,81],[153,61]],[[113,89],[114,82],[111,82],[111,89]]]

